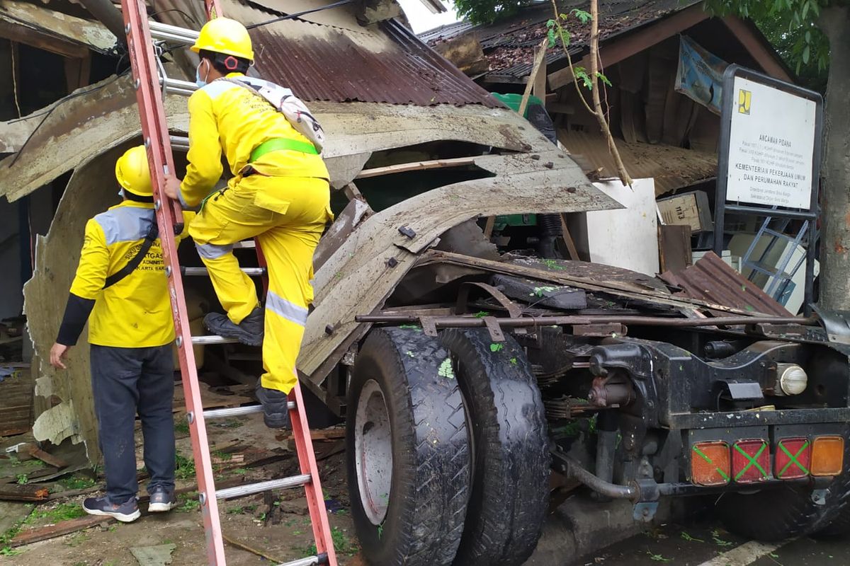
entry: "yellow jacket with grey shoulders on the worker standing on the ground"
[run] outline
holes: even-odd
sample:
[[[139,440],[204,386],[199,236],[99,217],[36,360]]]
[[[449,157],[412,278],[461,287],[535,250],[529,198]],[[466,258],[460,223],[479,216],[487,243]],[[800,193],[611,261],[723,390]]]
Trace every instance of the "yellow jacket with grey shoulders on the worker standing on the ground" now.
[[[192,218],[194,213],[184,213],[186,226]],[[159,238],[133,272],[104,289],[106,277],[120,271],[138,253],[153,221],[153,204],[125,200],[86,223],[71,294],[95,300],[88,318],[90,344],[145,348],[173,341],[174,323]],[[185,234],[184,229],[178,242]]]

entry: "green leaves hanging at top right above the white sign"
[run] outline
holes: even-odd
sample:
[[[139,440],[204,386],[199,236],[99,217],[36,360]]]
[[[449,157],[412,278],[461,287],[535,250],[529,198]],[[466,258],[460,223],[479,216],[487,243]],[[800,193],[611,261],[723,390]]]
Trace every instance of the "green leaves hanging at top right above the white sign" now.
[[[817,27],[836,0],[706,0],[711,14],[750,18],[806,87],[824,91],[830,46]]]

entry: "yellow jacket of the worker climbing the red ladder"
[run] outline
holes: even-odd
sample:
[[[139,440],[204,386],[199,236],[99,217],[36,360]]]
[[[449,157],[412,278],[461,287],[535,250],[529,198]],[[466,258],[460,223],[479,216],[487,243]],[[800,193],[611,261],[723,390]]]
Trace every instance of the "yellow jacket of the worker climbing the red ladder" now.
[[[243,76],[230,73],[229,77]],[[189,98],[189,165],[180,186],[184,205],[195,206],[221,178],[221,152],[234,177],[248,164],[251,152],[271,139],[309,143],[289,120],[258,94],[229,81],[212,81]],[[328,179],[320,155],[282,149],[264,154],[254,168],[269,177]]]

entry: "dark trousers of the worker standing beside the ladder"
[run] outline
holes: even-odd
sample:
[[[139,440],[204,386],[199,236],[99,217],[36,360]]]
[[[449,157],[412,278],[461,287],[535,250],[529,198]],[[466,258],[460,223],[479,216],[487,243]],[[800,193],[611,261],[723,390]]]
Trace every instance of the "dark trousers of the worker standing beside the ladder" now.
[[[148,492],[174,489],[174,362],[171,345],[91,346],[94,412],[104,455],[106,495],[115,504],[136,496],[136,412],[142,421]]]

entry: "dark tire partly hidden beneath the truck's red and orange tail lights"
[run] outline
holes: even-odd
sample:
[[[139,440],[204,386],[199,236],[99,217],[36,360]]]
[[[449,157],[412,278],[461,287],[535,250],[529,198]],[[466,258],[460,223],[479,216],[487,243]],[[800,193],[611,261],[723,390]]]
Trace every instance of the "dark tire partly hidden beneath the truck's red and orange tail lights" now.
[[[811,489],[788,486],[749,495],[724,494],[715,507],[717,517],[728,530],[757,541],[784,541],[819,532],[828,535],[830,524],[847,515],[850,442],[845,442],[844,462],[842,474],[825,489],[822,505],[813,501]]]

